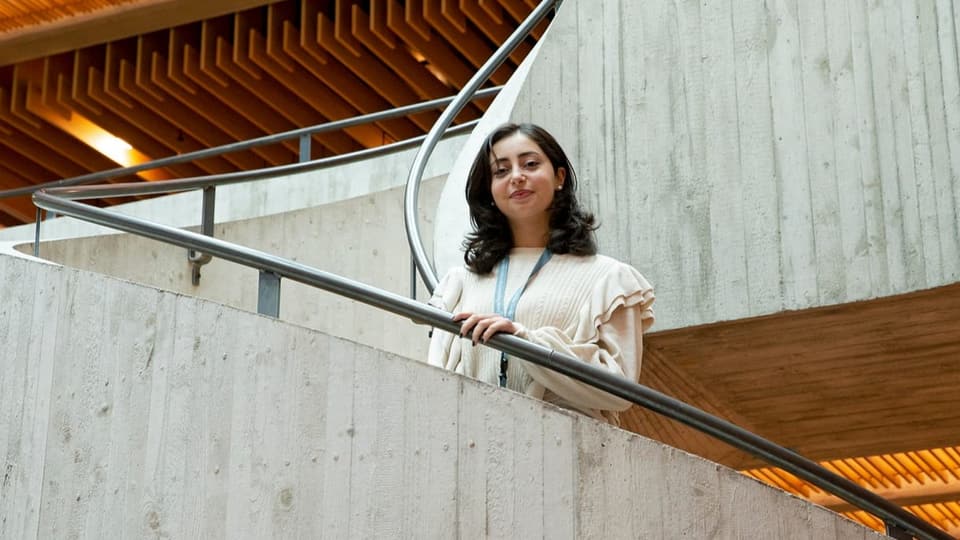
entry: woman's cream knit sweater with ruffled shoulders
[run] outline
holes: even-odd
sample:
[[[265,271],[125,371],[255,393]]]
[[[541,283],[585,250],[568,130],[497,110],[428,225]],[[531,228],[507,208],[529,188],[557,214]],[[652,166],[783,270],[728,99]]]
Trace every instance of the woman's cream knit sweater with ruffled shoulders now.
[[[515,248],[504,294],[513,293],[530,275],[542,248]],[[496,268],[478,275],[466,268],[448,272],[430,304],[451,313],[493,313]],[[610,257],[553,255],[527,286],[517,305],[518,337],[576,356],[636,382],[640,376],[643,332],[653,324],[653,289],[633,267]],[[436,330],[428,362],[497,384],[500,352],[473,346]],[[619,425],[618,412],[631,403],[547,368],[510,359],[507,387],[561,407]]]

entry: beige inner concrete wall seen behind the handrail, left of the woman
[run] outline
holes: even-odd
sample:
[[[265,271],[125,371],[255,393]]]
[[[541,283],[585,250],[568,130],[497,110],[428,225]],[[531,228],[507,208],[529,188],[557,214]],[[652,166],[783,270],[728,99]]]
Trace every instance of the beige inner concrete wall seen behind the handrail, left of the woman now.
[[[427,245],[442,178],[420,191]],[[410,250],[403,229],[403,188],[395,187],[320,207],[216,225],[217,238],[286,257],[398,294],[410,294]],[[191,282],[185,249],[134,235],[113,234],[44,242],[41,257],[248,311],[257,310],[258,273],[214,259]],[[420,285],[418,298],[427,298]],[[284,280],[280,318],[410,358],[426,359],[427,331],[339,296]]]

